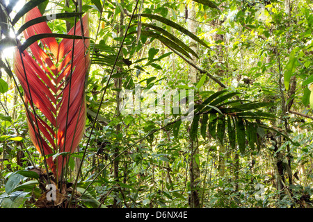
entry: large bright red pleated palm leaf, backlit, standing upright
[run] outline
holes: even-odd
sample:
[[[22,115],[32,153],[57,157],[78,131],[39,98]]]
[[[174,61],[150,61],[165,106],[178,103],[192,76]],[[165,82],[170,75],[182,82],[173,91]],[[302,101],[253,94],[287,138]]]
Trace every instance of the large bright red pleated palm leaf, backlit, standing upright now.
[[[41,16],[38,8],[33,8],[26,14],[25,22]],[[86,123],[84,84],[90,64],[88,15],[75,27],[67,35],[77,36],[78,40],[63,39],[58,44],[55,37],[40,38],[44,49],[33,42],[29,46],[31,54],[16,49],[14,56],[15,74],[24,89],[29,111],[26,113],[31,140],[42,155],[48,156],[47,163],[56,176],[63,170],[63,157],[59,155],[53,160],[51,154],[74,152]],[[24,31],[26,41],[35,35],[51,34],[45,22]],[[32,112],[30,105],[34,107]]]

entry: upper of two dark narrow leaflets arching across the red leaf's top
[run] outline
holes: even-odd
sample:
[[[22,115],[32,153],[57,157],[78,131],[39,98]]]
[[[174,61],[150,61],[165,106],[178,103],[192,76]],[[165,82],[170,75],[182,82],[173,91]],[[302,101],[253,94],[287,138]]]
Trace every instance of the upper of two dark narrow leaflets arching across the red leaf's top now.
[[[29,22],[26,22],[25,24],[22,25],[21,28],[19,28],[19,30],[17,31],[17,35],[21,34],[26,28],[29,28],[30,26],[33,26],[41,22],[48,22],[53,19],[66,19],[70,17],[78,17],[79,15],[83,15],[83,12],[65,12],[52,15],[45,15],[35,19],[31,19]]]

